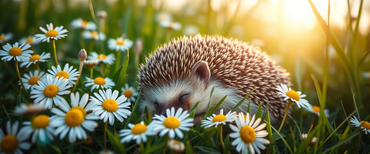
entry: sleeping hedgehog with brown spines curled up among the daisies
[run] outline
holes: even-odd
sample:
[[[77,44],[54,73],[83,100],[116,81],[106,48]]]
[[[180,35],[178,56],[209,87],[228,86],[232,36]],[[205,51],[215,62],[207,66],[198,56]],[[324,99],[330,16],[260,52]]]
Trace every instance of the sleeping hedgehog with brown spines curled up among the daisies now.
[[[290,85],[289,73],[257,46],[221,35],[173,38],[145,57],[137,75],[141,88],[139,109],[145,106],[155,114],[166,114],[171,107],[190,110],[196,102],[194,120],[205,116],[208,103],[213,109],[227,95],[219,110],[239,106],[255,114],[262,103],[269,103],[272,122],[282,119],[287,100],[276,95],[280,83]],[[211,96],[211,90],[214,91]]]

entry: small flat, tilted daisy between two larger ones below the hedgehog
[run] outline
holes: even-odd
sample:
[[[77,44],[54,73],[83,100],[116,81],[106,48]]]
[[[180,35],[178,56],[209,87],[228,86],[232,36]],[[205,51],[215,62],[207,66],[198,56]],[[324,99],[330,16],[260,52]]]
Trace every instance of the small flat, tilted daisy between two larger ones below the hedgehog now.
[[[232,123],[237,117],[236,112],[231,113],[231,111],[223,115],[223,109],[221,109],[220,114],[212,114],[211,117],[207,117],[208,120],[202,120],[203,125],[201,127],[205,126],[204,128],[209,128],[213,126],[217,127],[220,124],[226,125],[226,123]]]

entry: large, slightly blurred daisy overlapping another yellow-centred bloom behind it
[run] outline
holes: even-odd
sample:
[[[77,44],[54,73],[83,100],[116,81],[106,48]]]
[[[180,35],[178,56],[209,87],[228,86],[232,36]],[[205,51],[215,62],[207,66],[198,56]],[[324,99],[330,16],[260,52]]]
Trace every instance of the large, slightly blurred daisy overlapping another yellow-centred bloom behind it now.
[[[60,109],[51,109],[51,112],[55,115],[50,118],[50,125],[55,127],[54,134],[59,135],[60,140],[67,136],[67,134],[70,143],[75,143],[77,138],[79,140],[87,139],[85,130],[94,131],[98,127],[98,123],[94,120],[98,120],[99,117],[93,113],[86,113],[94,105],[94,103],[88,104],[88,99],[88,93],[82,95],[81,99],[78,92],[76,92],[76,95],[71,93],[72,107],[64,100],[59,105]]]

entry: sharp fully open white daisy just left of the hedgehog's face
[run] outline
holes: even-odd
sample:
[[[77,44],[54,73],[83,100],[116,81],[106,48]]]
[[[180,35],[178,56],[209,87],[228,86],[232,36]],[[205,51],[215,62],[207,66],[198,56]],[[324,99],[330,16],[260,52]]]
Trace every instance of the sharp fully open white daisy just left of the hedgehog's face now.
[[[95,115],[99,115],[100,120],[103,120],[103,122],[109,120],[109,124],[113,125],[114,117],[120,122],[123,122],[124,118],[131,115],[131,111],[128,110],[131,103],[123,103],[127,98],[123,95],[118,97],[117,90],[114,90],[113,93],[112,89],[99,90],[99,93],[100,95],[95,92],[94,95],[96,98],[90,96],[89,100],[97,105],[92,109],[92,112],[94,112]]]

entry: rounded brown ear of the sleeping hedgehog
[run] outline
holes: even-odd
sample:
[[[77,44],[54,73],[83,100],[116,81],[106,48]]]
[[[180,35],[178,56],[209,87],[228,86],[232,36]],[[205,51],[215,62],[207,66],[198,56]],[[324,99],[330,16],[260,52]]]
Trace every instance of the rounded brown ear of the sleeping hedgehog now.
[[[193,68],[191,69],[191,74],[193,76],[198,76],[201,80],[204,81],[206,87],[208,88],[209,79],[211,77],[211,71],[209,71],[208,63],[205,61],[198,61],[194,64]]]

